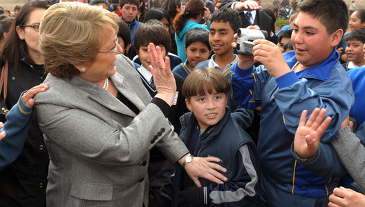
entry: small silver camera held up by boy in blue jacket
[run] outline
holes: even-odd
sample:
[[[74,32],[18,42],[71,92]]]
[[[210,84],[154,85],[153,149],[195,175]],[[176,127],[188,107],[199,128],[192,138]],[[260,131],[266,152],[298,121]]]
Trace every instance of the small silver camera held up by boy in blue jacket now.
[[[264,30],[238,29],[237,47],[239,55],[252,55],[252,48],[255,46],[255,39],[268,39],[268,32]]]

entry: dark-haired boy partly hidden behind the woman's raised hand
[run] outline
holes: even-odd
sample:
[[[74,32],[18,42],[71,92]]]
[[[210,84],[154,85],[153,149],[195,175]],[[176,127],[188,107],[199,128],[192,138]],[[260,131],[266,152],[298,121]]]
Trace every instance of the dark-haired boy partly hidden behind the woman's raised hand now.
[[[162,56],[167,57],[167,53],[171,47],[170,35],[165,29],[165,26],[158,20],[144,23],[140,26],[135,32],[134,42],[135,50],[142,63],[140,68],[137,68],[138,74],[151,97],[154,97],[157,94],[157,90],[154,86],[152,73],[149,70],[149,65],[151,65],[148,52],[149,43],[159,46],[161,48]],[[185,97],[183,97],[181,93],[184,79],[176,74],[174,74],[174,77],[176,81],[176,93],[174,102],[167,113],[167,119],[169,119],[174,126],[175,132],[179,133],[179,118],[188,110],[185,105]],[[169,161],[167,161],[164,155],[162,155],[158,149],[152,148],[150,150],[148,173],[149,188],[151,189],[150,192],[153,192],[155,201],[159,199],[161,186],[169,180],[169,176],[171,176],[173,172],[174,167],[169,164]]]

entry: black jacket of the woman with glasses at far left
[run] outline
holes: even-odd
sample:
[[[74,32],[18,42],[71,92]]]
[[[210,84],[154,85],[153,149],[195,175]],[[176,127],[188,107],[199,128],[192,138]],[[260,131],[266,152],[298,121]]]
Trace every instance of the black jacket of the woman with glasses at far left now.
[[[17,103],[21,92],[39,85],[45,77],[43,66],[25,59],[20,60],[18,70],[9,64],[7,106]],[[43,133],[33,116],[21,154],[0,172],[0,206],[46,206],[48,164]]]

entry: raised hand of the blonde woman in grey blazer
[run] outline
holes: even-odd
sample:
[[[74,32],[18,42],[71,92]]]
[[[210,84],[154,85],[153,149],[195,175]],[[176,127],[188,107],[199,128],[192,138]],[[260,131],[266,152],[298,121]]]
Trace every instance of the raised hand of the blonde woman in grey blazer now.
[[[155,47],[153,43],[149,43],[148,50],[149,58],[151,59],[149,69],[151,70],[157,90],[155,97],[164,100],[171,106],[176,92],[176,82],[170,69],[170,59],[166,57],[164,61],[161,48],[158,46]]]

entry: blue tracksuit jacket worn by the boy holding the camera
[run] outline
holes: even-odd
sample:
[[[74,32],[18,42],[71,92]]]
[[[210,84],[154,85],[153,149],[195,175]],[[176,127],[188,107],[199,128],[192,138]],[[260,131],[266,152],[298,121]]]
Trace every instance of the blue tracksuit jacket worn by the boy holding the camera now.
[[[297,63],[294,51],[283,56],[290,68]],[[338,59],[338,52],[333,50],[319,65],[288,72],[277,79],[264,66],[247,70],[235,66],[234,99],[245,108],[263,107],[257,150],[261,175],[287,193],[327,197],[337,186],[339,177],[346,175],[330,145],[354,103],[350,78]],[[315,161],[308,170],[294,159],[291,146],[301,112],[306,109],[310,115],[316,107],[326,108],[326,115],[332,121],[321,137],[319,147],[323,153],[313,158]]]

